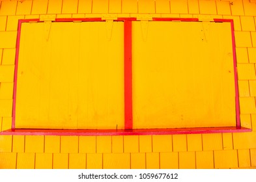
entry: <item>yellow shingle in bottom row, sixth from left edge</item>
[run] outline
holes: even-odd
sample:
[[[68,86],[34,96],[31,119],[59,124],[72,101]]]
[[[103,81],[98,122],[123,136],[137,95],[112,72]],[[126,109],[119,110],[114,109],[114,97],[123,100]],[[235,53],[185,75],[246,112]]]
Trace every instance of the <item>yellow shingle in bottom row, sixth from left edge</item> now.
[[[87,153],[87,169],[102,169],[102,153]]]

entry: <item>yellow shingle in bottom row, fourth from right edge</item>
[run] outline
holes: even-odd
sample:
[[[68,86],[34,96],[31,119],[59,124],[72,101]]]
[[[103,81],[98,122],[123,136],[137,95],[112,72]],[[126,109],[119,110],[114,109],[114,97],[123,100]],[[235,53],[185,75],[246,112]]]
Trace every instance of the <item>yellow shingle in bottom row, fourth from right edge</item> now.
[[[195,153],[197,169],[213,169],[214,155],[213,151],[197,151]]]

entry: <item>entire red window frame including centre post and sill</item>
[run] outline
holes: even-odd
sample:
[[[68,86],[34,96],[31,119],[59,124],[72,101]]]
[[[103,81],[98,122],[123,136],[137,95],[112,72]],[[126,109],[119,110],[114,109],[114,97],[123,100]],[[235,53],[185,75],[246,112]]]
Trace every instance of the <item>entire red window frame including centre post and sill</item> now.
[[[249,132],[251,129],[241,127],[240,107],[238,94],[238,77],[236,72],[236,45],[233,19],[214,19],[214,22],[229,22],[231,24],[231,36],[233,44],[233,65],[235,73],[235,127],[194,127],[177,129],[132,129],[132,21],[136,18],[118,18],[114,21],[124,22],[124,129],[16,129],[16,92],[18,76],[18,57],[20,48],[21,24],[25,22],[42,22],[40,19],[20,19],[18,21],[18,36],[16,42],[16,60],[14,71],[14,94],[12,107],[12,128],[1,132],[1,135],[175,135],[195,133],[238,133]],[[106,21],[102,18],[59,18],[53,22],[68,21]],[[153,18],[152,21],[199,21],[197,18]]]

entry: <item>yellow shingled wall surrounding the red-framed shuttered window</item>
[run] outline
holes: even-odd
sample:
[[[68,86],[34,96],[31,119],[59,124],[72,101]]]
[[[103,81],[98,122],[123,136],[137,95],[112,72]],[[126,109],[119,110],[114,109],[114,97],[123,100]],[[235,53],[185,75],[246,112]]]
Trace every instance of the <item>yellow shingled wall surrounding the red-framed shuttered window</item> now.
[[[11,127],[18,19],[234,19],[242,126],[251,133],[154,136],[0,135],[0,168],[256,168],[256,3],[249,0],[0,1],[0,130]]]

